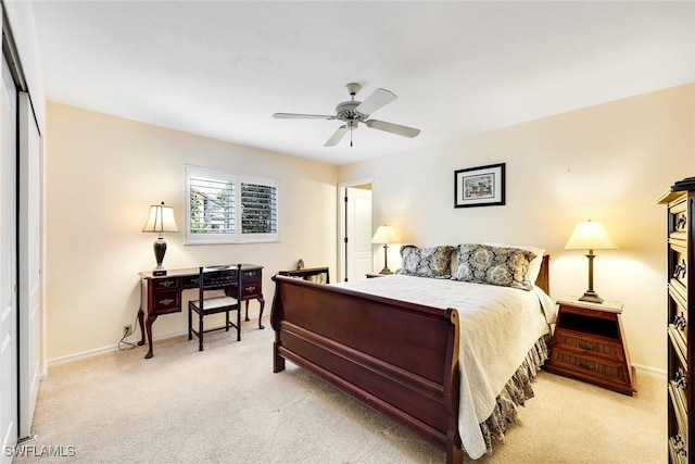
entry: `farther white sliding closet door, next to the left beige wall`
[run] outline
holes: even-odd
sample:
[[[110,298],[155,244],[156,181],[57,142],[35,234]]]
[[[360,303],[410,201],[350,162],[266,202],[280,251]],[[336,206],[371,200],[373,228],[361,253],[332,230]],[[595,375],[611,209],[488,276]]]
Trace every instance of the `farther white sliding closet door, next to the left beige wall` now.
[[[41,379],[41,138],[20,92],[20,438],[31,435]]]

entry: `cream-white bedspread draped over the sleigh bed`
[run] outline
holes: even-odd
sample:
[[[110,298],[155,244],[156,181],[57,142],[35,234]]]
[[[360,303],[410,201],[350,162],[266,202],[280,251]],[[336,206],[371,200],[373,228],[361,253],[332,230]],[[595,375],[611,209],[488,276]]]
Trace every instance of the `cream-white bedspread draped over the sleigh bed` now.
[[[458,430],[468,455],[480,457],[485,452],[485,442],[479,424],[490,416],[495,399],[531,347],[548,333],[548,323],[555,321],[551,298],[538,287],[525,291],[402,275],[334,285],[442,310],[458,310],[462,369]]]

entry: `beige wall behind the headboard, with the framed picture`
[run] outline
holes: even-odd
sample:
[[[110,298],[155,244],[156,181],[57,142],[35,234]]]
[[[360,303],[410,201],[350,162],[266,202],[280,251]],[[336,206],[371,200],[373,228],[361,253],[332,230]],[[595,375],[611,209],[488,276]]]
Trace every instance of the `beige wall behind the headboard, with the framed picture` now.
[[[506,205],[454,209],[455,170],[502,162]],[[340,181],[374,178],[375,224],[397,227],[404,241],[545,248],[555,299],[586,289],[586,259],[564,247],[577,222],[601,221],[619,250],[597,251],[594,288],[624,303],[633,364],[657,371],[666,367],[666,210],[656,199],[688,176],[695,176],[695,84],[340,171]],[[397,247],[391,250],[395,268]],[[382,255],[376,256],[380,268]]]

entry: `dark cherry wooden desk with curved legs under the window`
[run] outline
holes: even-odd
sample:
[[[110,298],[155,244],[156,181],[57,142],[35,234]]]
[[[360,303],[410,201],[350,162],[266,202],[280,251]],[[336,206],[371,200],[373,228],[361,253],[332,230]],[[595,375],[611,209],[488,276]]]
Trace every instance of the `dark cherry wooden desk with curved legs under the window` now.
[[[151,271],[138,273],[140,276],[140,310],[138,311],[138,322],[142,338],[138,344],[144,344],[147,339],[150,342],[150,350],[144,355],[152,358],[152,324],[162,314],[181,312],[184,290],[197,289],[199,281],[198,267],[187,269],[167,269],[165,276],[153,276]],[[258,315],[258,328],[265,328],[261,324],[265,300],[262,291],[263,266],[255,264],[241,265],[241,298],[247,302],[247,317],[249,321],[249,300],[257,300],[261,303],[261,314]],[[148,318],[144,321],[144,313]]]

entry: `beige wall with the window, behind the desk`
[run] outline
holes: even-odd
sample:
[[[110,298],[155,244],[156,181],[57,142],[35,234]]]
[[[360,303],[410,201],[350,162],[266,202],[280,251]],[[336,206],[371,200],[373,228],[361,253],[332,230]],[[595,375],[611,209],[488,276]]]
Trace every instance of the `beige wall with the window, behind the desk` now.
[[[142,234],[150,204],[174,206],[184,226],[184,164],[279,181],[279,243],[185,246],[167,234],[164,266],[247,262],[271,274],[307,266],[336,269],[338,168],[154,127],[76,108],[47,106],[48,360],[113,349],[139,308],[137,273],[155,266],[154,234]],[[258,305],[251,303],[251,314]],[[161,316],[154,338],[186,330],[185,313]],[[243,330],[256,329],[256,321]],[[266,330],[269,330],[266,327]],[[144,351],[142,352],[144,354]],[[156,348],[155,348],[156,355]]]

